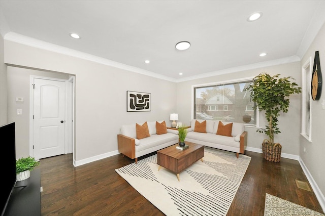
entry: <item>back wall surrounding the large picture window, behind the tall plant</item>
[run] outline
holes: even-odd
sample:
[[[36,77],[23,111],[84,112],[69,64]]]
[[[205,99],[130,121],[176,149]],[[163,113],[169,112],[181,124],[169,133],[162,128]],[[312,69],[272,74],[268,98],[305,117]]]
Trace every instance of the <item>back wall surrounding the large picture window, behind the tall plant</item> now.
[[[192,112],[192,85],[226,81],[231,79],[239,79],[246,77],[254,77],[259,73],[267,72],[270,75],[281,74],[280,77],[292,76],[293,80],[301,86],[301,66],[300,62],[281,64],[265,68],[251,69],[247,71],[238,71],[231,74],[223,74],[211,76],[196,80],[179,82],[177,84],[177,112],[179,113],[180,122],[189,122]],[[282,145],[282,153],[290,155],[299,155],[299,133],[300,133],[300,113],[301,113],[301,94],[292,95],[290,97],[289,111],[280,115],[278,127],[281,133],[275,135],[275,142]],[[189,123],[187,123],[189,124]],[[264,127],[267,121],[264,114],[261,115],[259,125]],[[262,142],[267,137],[264,134],[256,133],[256,127],[245,127],[248,132],[247,146],[251,148],[261,149]]]

